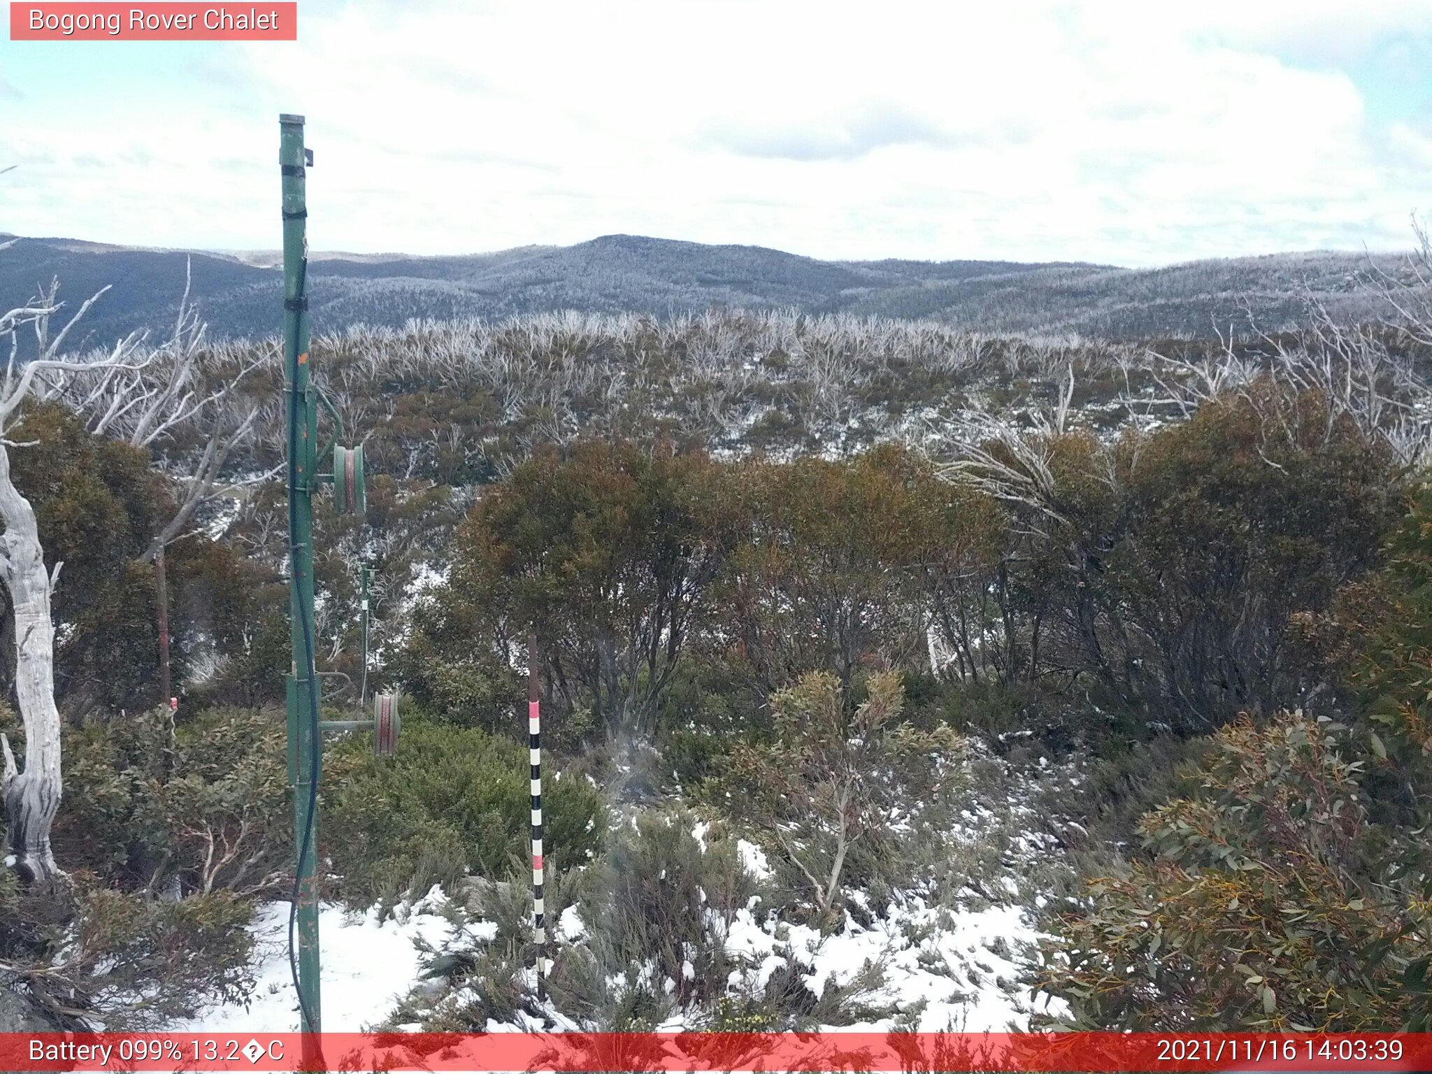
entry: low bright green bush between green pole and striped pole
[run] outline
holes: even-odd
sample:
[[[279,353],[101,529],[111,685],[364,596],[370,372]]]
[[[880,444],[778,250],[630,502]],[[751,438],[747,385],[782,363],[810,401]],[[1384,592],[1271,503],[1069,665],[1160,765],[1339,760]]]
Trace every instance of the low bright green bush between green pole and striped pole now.
[[[531,831],[527,749],[477,727],[407,716],[392,758],[371,736],[326,752],[321,838],[348,899],[394,899],[471,871],[504,876]],[[543,821],[553,859],[580,863],[601,846],[597,789],[548,772]]]

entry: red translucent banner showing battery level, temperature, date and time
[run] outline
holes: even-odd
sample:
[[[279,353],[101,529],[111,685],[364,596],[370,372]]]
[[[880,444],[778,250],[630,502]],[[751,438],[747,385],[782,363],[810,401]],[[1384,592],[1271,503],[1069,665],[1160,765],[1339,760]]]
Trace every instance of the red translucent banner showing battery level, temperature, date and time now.
[[[319,1061],[385,1071],[1429,1071],[1432,1034],[0,1034],[9,1071],[289,1071]]]

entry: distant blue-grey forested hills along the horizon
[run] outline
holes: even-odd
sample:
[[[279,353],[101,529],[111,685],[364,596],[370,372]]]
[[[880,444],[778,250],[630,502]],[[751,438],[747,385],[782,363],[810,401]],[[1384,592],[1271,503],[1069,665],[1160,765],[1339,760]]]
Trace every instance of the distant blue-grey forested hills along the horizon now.
[[[23,238],[0,253],[0,295],[16,302],[52,278],[77,304],[110,292],[86,318],[87,339],[160,329],[183,291],[193,294],[216,337],[263,337],[278,328],[281,275],[272,253],[153,251],[73,239]],[[1378,255],[1380,268],[1398,259]],[[1067,334],[1130,339],[1213,335],[1247,325],[1247,304],[1264,329],[1299,319],[1300,292],[1345,319],[1375,315],[1360,282],[1360,253],[1277,253],[1200,261],[1160,269],[1073,262],[816,261],[763,246],[707,246],[606,235],[574,246],[415,258],[319,255],[309,265],[314,328],[401,326],[410,318],[501,318],[511,314],[674,314],[713,305],[795,308],[932,318],[971,331]]]

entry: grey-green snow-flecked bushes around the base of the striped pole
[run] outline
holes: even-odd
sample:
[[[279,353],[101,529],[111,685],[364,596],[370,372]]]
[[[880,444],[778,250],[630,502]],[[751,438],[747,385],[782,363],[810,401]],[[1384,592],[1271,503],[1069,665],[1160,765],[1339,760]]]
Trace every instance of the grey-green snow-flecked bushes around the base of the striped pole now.
[[[597,861],[548,874],[547,988],[556,1007],[584,1028],[650,1030],[674,1008],[716,1002],[742,968],[725,935],[756,885],[740,869],[733,839],[709,831],[703,846],[695,826],[684,811],[637,813],[610,833]],[[430,952],[427,975],[435,985],[415,990],[391,1021],[471,1031],[488,1018],[511,1020],[517,1010],[541,1017],[531,994],[528,876],[514,872],[507,882],[470,881],[464,888],[495,935],[455,931]],[[573,906],[584,935],[557,939]],[[528,971],[518,977],[524,964]]]

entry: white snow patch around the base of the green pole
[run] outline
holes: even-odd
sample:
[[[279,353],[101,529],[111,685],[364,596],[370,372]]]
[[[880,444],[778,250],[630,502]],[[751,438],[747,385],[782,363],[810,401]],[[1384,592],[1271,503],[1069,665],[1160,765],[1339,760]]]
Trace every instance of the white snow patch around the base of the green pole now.
[[[440,945],[453,929],[441,915],[445,896],[434,889],[387,921],[324,905],[318,916],[322,945],[321,998],[324,1030],[361,1032],[387,1018],[398,1000],[417,984],[421,955],[414,941]],[[249,927],[255,938],[253,995],[243,1004],[200,1011],[175,1030],[198,1032],[289,1032],[298,1030],[298,998],[288,965],[288,902],[263,904]],[[495,925],[475,925],[480,937]]]

